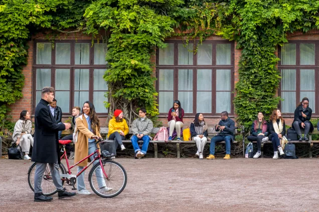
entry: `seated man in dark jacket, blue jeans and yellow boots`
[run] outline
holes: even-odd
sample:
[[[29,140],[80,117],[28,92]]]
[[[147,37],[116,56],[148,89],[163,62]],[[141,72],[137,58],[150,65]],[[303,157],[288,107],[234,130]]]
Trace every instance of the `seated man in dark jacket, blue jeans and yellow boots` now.
[[[221,113],[221,120],[215,126],[216,131],[221,131],[218,135],[215,135],[211,140],[211,145],[209,148],[209,155],[206,159],[215,159],[215,144],[216,142],[221,142],[225,140],[226,155],[224,159],[230,159],[230,142],[234,140],[235,133],[235,122],[228,117],[228,112],[223,111]]]

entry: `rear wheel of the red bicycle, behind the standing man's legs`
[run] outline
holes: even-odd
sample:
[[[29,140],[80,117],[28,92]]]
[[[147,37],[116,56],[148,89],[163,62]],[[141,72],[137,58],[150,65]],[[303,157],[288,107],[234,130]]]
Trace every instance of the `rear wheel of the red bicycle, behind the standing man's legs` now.
[[[32,191],[34,191],[34,175],[35,175],[35,172],[36,172],[36,166],[37,166],[37,162],[34,162],[30,168],[29,168],[29,171],[28,171],[28,183],[29,183],[29,186],[30,188],[32,189]],[[59,164],[59,170],[61,173],[66,173],[66,169],[64,167],[64,165],[61,163]],[[50,176],[50,173],[48,172],[50,171],[50,167],[49,167],[49,164],[47,163],[47,168],[43,174],[43,177],[45,176]],[[52,184],[52,185],[49,185],[49,186],[43,186],[45,183],[47,184]],[[62,185],[64,184],[64,180],[62,180]],[[56,192],[58,192],[57,188],[55,187],[54,183],[53,183],[53,180],[51,179],[45,179],[43,178],[42,179],[42,182],[41,182],[41,187],[42,187],[42,192],[44,195],[46,196],[50,196],[50,195],[53,195],[55,194]]]

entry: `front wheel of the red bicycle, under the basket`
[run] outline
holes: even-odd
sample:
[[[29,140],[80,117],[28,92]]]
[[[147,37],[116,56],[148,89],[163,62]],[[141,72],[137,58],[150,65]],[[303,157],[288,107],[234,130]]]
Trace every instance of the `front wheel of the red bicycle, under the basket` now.
[[[120,194],[127,181],[126,171],[118,162],[103,159],[103,174],[100,163],[96,163],[89,173],[89,182],[92,190],[104,198],[111,198]]]

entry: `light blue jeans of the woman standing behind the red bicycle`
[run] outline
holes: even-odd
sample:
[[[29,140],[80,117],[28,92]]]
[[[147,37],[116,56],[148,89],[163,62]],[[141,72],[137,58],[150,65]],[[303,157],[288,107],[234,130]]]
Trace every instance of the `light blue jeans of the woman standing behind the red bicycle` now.
[[[89,142],[89,152],[88,152],[88,155],[89,154],[92,154],[96,149],[96,144],[95,142]],[[90,156],[90,160],[94,160],[94,156]],[[96,163],[99,163],[100,161],[99,160],[95,160],[92,164],[92,167],[96,164]],[[78,173],[84,168],[84,166],[78,166]],[[83,171],[77,178],[77,188],[78,190],[82,190],[82,189],[85,189],[85,183],[84,183],[84,172]],[[96,179],[97,179],[97,184],[99,186],[99,188],[102,188],[102,187],[105,187],[106,186],[106,183],[105,183],[105,180],[104,180],[104,177],[103,177],[103,172],[102,172],[102,169],[101,167],[98,167],[95,171],[95,175],[96,175]]]

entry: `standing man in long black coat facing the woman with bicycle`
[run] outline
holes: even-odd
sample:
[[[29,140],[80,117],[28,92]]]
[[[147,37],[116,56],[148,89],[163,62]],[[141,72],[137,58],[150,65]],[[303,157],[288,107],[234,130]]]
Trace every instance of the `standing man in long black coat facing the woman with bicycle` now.
[[[51,176],[54,185],[58,189],[59,198],[74,196],[75,192],[68,192],[62,187],[62,180],[59,173],[59,140],[58,130],[71,127],[70,123],[57,124],[49,110],[48,105],[54,99],[54,88],[44,87],[41,90],[41,100],[35,111],[35,136],[32,150],[32,161],[37,162],[34,179],[35,196],[34,201],[51,201],[51,196],[42,193],[41,182],[43,173],[49,163]]]

